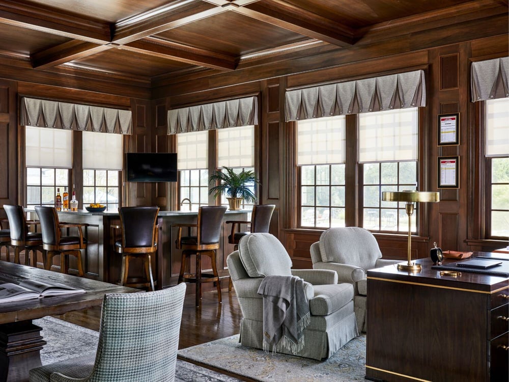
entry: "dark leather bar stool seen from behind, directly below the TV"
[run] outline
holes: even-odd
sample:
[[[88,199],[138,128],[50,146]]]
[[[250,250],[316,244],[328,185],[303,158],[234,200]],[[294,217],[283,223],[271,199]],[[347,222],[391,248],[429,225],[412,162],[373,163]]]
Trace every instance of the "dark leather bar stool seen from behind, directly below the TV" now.
[[[119,207],[122,239],[115,242],[115,250],[122,254],[120,285],[154,289],[151,255],[157,252],[157,214],[159,207]],[[129,279],[129,261],[141,258],[145,280]]]

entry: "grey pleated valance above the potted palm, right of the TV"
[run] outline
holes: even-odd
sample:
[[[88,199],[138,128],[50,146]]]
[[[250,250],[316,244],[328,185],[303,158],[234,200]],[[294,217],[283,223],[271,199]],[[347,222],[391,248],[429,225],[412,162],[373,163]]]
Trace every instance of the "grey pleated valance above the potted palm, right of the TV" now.
[[[168,110],[168,134],[257,124],[257,97]]]

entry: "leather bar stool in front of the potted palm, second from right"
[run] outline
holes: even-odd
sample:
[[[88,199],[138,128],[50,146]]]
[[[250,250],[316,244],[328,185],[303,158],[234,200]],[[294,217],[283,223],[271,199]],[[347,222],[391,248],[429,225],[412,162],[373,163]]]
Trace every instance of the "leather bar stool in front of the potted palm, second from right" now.
[[[216,250],[219,249],[222,219],[226,212],[223,206],[207,206],[198,209],[197,224],[174,224],[179,232],[175,242],[177,249],[182,250],[182,263],[180,265],[179,284],[182,282],[195,283],[195,305],[200,306],[202,298],[202,283],[215,282],[217,287],[217,300],[221,303],[221,283],[217,274]],[[196,236],[182,236],[183,228],[196,228]],[[186,262],[195,255],[194,273],[185,271]],[[210,257],[212,274],[202,272],[202,256]]]

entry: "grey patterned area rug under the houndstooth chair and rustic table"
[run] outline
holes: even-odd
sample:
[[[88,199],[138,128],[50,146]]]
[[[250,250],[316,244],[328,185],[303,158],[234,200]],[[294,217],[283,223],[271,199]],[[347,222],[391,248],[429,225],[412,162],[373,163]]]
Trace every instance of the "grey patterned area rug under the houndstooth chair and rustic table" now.
[[[99,333],[58,318],[46,316],[33,321],[41,326],[47,344],[41,350],[43,365],[60,362],[94,353]],[[175,372],[177,382],[239,382],[239,379],[177,360]]]

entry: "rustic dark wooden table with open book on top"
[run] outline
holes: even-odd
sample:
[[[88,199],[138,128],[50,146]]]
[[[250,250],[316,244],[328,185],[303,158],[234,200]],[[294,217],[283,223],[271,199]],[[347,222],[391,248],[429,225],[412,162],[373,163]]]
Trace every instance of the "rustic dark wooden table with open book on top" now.
[[[100,306],[105,293],[132,293],[138,289],[107,284],[0,261],[0,280],[18,283],[24,279],[60,283],[86,293],[52,296],[0,304],[0,382],[29,380],[29,370],[41,365],[39,351],[46,344],[33,319]]]

